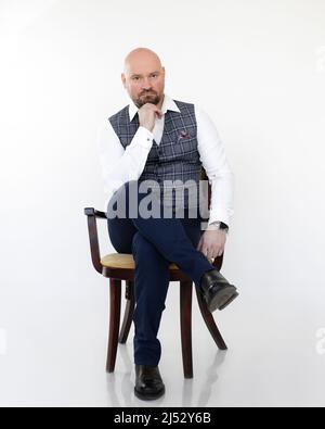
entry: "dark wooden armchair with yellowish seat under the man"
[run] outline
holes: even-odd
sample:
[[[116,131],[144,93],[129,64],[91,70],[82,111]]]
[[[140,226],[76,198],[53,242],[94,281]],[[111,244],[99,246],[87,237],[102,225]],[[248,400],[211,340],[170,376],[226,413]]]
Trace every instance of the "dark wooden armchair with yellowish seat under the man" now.
[[[207,179],[203,169],[202,179]],[[209,204],[211,189],[209,185]],[[210,205],[209,205],[210,206]],[[88,218],[88,232],[90,240],[90,251],[92,264],[96,272],[102,276],[109,278],[109,335],[106,370],[113,373],[116,362],[117,345],[126,343],[130,331],[133,311],[134,311],[134,260],[132,254],[110,253],[103,257],[100,255],[100,245],[98,237],[96,219],[106,219],[106,213],[100,212],[92,207],[86,207],[84,214]],[[213,266],[220,270],[222,266],[223,254],[213,261]],[[170,264],[170,281],[180,282],[180,321],[181,321],[181,341],[182,358],[185,378],[193,378],[193,359],[192,359],[192,279],[186,277],[176,264]],[[120,308],[121,308],[121,281],[126,283],[126,307],[122,326],[120,328]],[[196,296],[204,321],[209,329],[217,346],[220,350],[226,350],[226,345],[214,323],[212,314],[207,307],[200,292],[196,290]]]

